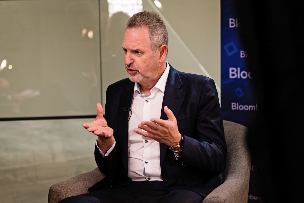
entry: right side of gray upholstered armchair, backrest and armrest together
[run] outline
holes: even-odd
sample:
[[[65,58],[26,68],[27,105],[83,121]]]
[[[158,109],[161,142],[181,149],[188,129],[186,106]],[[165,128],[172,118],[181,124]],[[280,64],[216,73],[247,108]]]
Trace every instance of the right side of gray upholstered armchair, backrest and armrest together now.
[[[225,181],[207,195],[203,203],[247,203],[251,159],[247,128],[230,121],[223,123],[228,154]]]

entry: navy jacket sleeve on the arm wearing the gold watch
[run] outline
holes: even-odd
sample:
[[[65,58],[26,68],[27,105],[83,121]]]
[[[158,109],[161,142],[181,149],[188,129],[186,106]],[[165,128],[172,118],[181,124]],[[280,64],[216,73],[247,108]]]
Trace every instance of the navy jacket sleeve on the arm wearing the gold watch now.
[[[225,169],[227,148],[218,93],[212,79],[207,79],[200,93],[191,128],[179,128],[184,148],[178,163],[219,174]],[[193,132],[189,133],[188,132]]]

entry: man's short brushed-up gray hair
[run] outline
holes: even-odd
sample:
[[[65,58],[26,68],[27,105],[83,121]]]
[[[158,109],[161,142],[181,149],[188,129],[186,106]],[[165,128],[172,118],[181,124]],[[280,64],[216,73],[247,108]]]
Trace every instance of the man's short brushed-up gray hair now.
[[[134,14],[127,22],[126,29],[146,26],[149,30],[151,49],[156,52],[163,44],[168,46],[168,32],[161,16],[153,11],[141,11]]]

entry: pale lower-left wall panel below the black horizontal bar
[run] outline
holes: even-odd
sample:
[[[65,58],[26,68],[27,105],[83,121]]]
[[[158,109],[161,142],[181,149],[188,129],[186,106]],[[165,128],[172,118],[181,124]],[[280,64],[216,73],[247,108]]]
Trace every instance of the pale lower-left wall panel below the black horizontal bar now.
[[[96,168],[89,121],[1,121],[0,203],[47,202],[51,185]]]

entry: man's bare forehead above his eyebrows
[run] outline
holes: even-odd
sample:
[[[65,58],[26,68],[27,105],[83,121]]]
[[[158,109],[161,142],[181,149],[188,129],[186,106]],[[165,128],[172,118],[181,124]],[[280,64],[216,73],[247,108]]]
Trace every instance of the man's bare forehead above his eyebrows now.
[[[147,27],[128,28],[123,36],[123,48],[150,48],[149,30]]]

